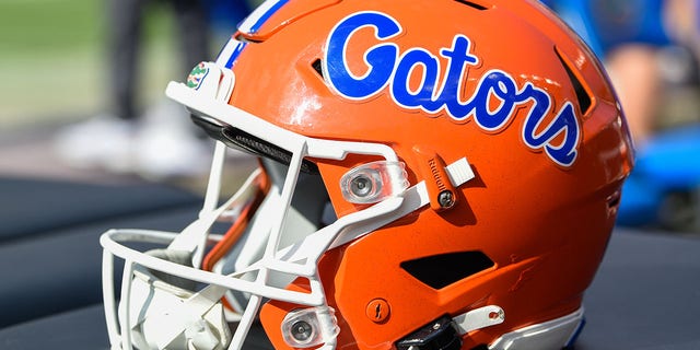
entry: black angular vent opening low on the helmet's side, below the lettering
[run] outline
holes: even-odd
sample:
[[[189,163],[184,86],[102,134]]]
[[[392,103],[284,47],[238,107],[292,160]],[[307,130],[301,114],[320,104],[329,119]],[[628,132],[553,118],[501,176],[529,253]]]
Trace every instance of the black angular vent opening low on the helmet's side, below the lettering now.
[[[486,254],[458,252],[404,261],[401,268],[417,280],[434,289],[443,289],[494,266]]]

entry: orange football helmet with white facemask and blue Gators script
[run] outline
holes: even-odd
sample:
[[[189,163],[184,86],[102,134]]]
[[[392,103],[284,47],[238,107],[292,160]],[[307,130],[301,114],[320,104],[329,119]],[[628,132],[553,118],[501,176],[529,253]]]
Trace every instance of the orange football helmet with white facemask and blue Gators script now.
[[[113,348],[575,340],[633,150],[538,2],[270,0],[166,94],[214,161],[182,232],[102,235]],[[259,166],[223,197],[229,149]]]

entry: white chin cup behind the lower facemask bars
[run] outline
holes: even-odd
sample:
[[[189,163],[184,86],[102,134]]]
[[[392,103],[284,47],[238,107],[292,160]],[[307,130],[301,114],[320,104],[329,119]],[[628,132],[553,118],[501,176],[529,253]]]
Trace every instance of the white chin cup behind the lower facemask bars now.
[[[178,253],[182,256],[175,257]],[[158,250],[151,255],[156,254],[170,260],[189,258],[187,252]],[[128,304],[133,345],[141,350],[225,349],[231,331],[220,302],[221,291],[206,288],[196,293],[175,285],[180,283],[172,279],[165,281],[144,268],[133,271]],[[124,310],[120,313],[124,315]]]

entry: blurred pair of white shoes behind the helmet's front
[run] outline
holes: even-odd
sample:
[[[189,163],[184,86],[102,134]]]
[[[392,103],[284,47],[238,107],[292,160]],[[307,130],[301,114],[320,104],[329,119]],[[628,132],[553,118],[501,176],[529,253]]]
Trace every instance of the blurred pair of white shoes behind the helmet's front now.
[[[213,141],[199,138],[186,110],[170,101],[138,120],[100,115],[61,130],[56,152],[68,165],[135,173],[153,179],[199,176],[211,164]]]

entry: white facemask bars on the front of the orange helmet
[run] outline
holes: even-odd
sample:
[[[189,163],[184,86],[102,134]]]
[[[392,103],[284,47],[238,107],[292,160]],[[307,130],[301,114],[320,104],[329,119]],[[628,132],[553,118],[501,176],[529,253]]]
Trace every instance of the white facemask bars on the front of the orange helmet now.
[[[221,152],[221,145],[218,145],[219,151],[217,152],[214,168],[219,167],[219,170],[212,170],[212,173],[210,175],[211,184],[207,190],[208,194],[205,201],[205,208],[200,212],[199,219],[190,224],[182,234],[175,235],[164,232],[114,230],[107,232],[101,237],[101,243],[105,247],[103,279],[106,287],[112,285],[110,281],[113,255],[119,256],[125,259],[121,299],[122,303],[126,302],[126,306],[121,307],[121,312],[124,313],[124,315],[122,317],[120,317],[120,331],[116,330],[116,325],[118,323],[118,318],[116,317],[116,305],[114,304],[114,302],[107,302],[105,304],[106,313],[108,314],[107,323],[109,325],[109,328],[112,329],[109,331],[110,340],[114,345],[121,343],[126,348],[129,348],[132,343],[130,339],[131,325],[129,325],[130,317],[128,313],[130,312],[130,307],[128,306],[128,299],[131,293],[130,281],[133,277],[135,267],[138,265],[149,269],[163,271],[168,275],[178,276],[185,279],[210,284],[210,287],[206,289],[219,289],[221,290],[221,294],[223,294],[223,292],[228,289],[250,293],[252,296],[249,299],[248,306],[243,314],[243,317],[238,324],[230,347],[231,349],[240,349],[264,298],[281,300],[308,306],[326,305],[323,287],[315,271],[315,265],[320,258],[320,255],[332,243],[334,237],[340,232],[339,228],[352,224],[353,222],[373,218],[377,214],[386,215],[387,212],[381,211],[385,211],[386,209],[389,209],[389,211],[395,210],[396,208],[398,208],[398,202],[400,202],[399,199],[395,205],[388,207],[380,206],[384,208],[377,208],[384,210],[370,210],[371,212],[374,211],[374,213],[366,212],[360,215],[354,215],[354,218],[352,218],[352,215],[348,215],[348,218],[341,222],[341,225],[331,225],[331,228],[329,228],[330,230],[325,231],[325,234],[323,235],[324,238],[320,240],[324,242],[323,244],[301,244],[298,246],[298,249],[294,249],[294,252],[296,253],[295,255],[279,256],[278,252],[280,250],[280,234],[282,232],[282,226],[285,220],[288,208],[291,205],[293,190],[300,168],[302,166],[302,161],[305,158],[342,160],[348,153],[378,155],[390,162],[396,162],[397,158],[394,151],[389,147],[384,144],[317,140],[296,135],[294,132],[276,127],[261,119],[258,119],[228,104],[215,103],[209,98],[201,98],[203,96],[199,96],[195,90],[188,89],[184,85],[171,84],[168,86],[167,94],[175,100],[183,102],[194,113],[201,113],[207,116],[215,115],[217,118],[222,120],[223,122],[235,125],[243,130],[254,131],[252,133],[256,137],[259,137],[260,139],[264,139],[268,142],[275,141],[275,143],[280,148],[290,151],[292,158],[289,164],[289,172],[284,180],[281,194],[282,210],[279,211],[279,215],[277,218],[270,218],[270,220],[273,222],[273,225],[270,232],[267,247],[264,253],[264,258],[259,261],[259,264],[256,264],[255,268],[248,269],[244,272],[236,272],[234,276],[221,276],[208,271],[192,269],[175,262],[162,260],[153,256],[141,254],[117,243],[126,241],[148,241],[153,243],[167,244],[168,247],[179,247],[187,246],[187,244],[182,244],[180,242],[191,243],[194,241],[197,241],[191,240],[191,237],[196,237],[199,235],[200,243],[196,244],[196,246],[199,248],[192,249],[191,245],[188,248],[192,249],[192,253],[195,253],[195,255],[200,255],[201,253],[198,252],[203,250],[201,247],[203,247],[205,245],[201,243],[203,242],[201,240],[206,240],[210,225],[213,224],[215,219],[220,217],[226,208],[231,207],[233,205],[233,201],[235,200],[234,198],[232,198],[218,209],[211,210],[212,203],[215,203],[218,201],[218,196],[214,195],[214,192],[219,191],[221,182],[220,167],[222,163],[221,160],[223,159],[223,152]],[[336,226],[336,230],[332,230],[332,226]],[[314,241],[310,242],[318,243]],[[303,258],[299,260],[289,259],[290,257],[295,258],[300,255],[303,256]],[[304,261],[303,265],[296,262],[301,260]],[[236,278],[242,277],[243,275],[253,270],[257,272],[255,281],[246,281]],[[293,292],[283,288],[275,288],[268,285],[267,279],[270,270],[307,278],[312,285],[312,292]],[[200,293],[202,291],[200,291]],[[104,293],[105,300],[115,300],[113,288],[105,288]],[[121,339],[118,339],[119,337]]]

